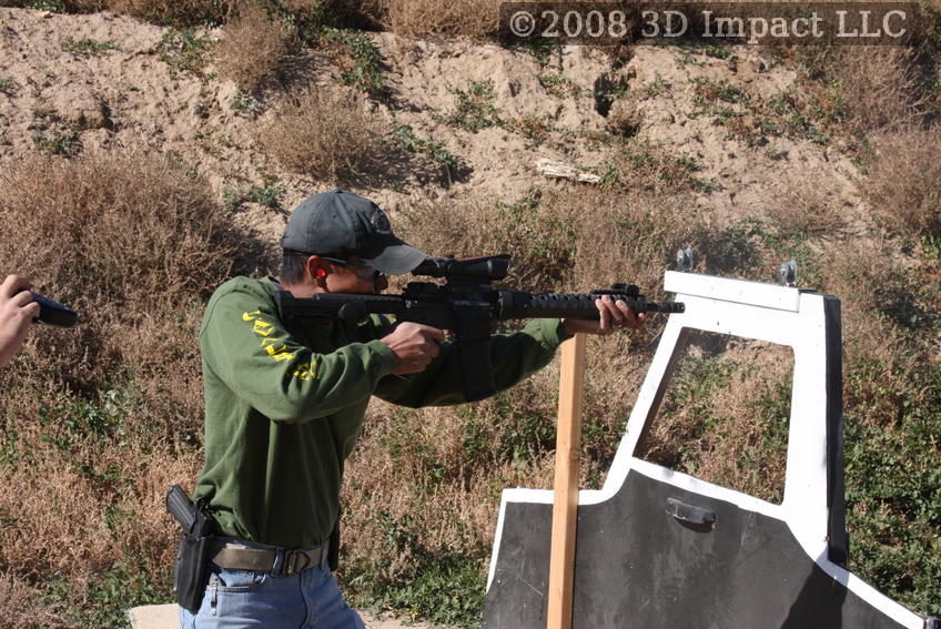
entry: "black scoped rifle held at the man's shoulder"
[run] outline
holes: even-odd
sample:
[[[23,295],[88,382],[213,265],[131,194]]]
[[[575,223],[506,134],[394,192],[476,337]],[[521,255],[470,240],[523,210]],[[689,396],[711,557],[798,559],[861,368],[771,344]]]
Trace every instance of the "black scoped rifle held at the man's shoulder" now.
[[[338,318],[355,323],[368,314],[389,314],[398,322],[414,322],[449,329],[468,402],[496,393],[493,373],[480,365],[490,364],[490,326],[494,322],[535,318],[598,318],[595,300],[610,295],[624,300],[635,313],[681,313],[678,302],[648,302],[633,284],[614,284],[608,290],[580,293],[539,293],[498,291],[493,283],[509,272],[508,255],[456,260],[432,257],[413,272],[416,276],[443,277],[444,284],[409,282],[399,295],[324,293],[295,298],[287,291],[275,295],[284,322],[308,318]]]

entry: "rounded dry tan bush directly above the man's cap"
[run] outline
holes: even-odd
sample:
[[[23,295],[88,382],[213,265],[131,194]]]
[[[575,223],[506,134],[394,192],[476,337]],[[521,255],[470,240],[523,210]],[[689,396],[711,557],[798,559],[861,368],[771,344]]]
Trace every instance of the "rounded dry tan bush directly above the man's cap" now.
[[[385,156],[385,126],[351,93],[311,88],[290,94],[259,132],[284,169],[322,181],[363,174]]]

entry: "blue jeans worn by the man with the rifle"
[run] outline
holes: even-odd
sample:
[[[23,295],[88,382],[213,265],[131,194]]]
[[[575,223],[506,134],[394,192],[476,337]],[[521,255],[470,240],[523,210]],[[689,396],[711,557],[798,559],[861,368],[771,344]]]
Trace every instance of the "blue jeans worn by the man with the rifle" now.
[[[365,629],[360,615],[343,600],[325,561],[290,577],[213,567],[199,612],[180,608],[180,625],[182,629]]]

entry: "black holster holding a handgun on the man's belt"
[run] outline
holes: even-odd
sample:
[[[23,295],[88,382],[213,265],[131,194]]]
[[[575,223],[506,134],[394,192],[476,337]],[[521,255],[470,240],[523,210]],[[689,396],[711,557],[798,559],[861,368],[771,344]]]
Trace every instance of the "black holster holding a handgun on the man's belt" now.
[[[183,527],[173,566],[173,594],[180,607],[195,613],[209,581],[209,547],[215,520],[201,498],[193,504],[179,485],[166,494],[166,510]]]

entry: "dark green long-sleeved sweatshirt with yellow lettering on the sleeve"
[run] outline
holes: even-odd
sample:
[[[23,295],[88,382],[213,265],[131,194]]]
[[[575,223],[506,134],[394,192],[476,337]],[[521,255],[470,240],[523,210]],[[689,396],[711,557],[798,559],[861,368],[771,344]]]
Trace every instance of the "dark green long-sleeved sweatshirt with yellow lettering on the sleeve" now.
[[[380,338],[392,322],[313,321],[289,333],[271,280],[235,277],[216,290],[200,329],[205,466],[196,496],[222,535],[285,547],[326,540],[338,514],[344,460],[372,395],[405,406],[465,402],[449,343],[419,374],[392,374]],[[557,319],[490,341],[503,390],[545,366],[566,337]]]

